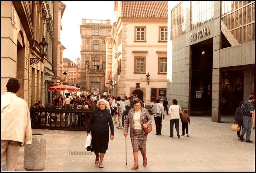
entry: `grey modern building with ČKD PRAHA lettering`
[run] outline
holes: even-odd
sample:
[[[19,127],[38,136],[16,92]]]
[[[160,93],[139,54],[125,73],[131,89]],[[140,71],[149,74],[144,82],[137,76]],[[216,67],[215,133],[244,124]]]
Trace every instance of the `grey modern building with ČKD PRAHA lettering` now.
[[[168,102],[191,115],[234,115],[255,95],[255,2],[191,1],[168,9]],[[226,101],[225,101],[226,100]]]

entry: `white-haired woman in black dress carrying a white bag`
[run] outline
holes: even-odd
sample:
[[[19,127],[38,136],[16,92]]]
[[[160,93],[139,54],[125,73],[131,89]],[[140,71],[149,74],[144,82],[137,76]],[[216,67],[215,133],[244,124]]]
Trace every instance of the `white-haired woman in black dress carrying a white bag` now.
[[[97,103],[99,108],[95,109],[90,117],[87,135],[89,135],[91,132],[91,151],[94,151],[96,155],[95,164],[99,163],[99,167],[103,168],[102,161],[106,153],[106,150],[108,150],[108,140],[114,139],[114,124],[110,111],[106,109],[106,100],[100,99]]]

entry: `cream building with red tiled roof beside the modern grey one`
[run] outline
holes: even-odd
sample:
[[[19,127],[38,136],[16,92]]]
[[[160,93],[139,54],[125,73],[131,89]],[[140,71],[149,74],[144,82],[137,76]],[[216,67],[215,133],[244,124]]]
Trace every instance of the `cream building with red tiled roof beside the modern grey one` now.
[[[117,21],[106,39],[106,85],[116,96],[136,93],[151,105],[166,96],[167,2],[115,1],[114,11]]]

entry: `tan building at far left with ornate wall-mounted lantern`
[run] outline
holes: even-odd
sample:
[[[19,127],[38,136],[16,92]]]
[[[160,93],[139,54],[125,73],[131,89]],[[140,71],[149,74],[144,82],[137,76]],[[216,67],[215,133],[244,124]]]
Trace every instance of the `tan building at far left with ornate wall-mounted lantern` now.
[[[6,92],[9,78],[18,78],[20,90],[17,95],[29,107],[44,99],[44,64],[38,62],[39,43],[43,36],[51,34],[45,28],[48,26],[46,17],[52,18],[51,5],[48,1],[1,1],[1,93]],[[51,61],[50,48],[44,62]]]

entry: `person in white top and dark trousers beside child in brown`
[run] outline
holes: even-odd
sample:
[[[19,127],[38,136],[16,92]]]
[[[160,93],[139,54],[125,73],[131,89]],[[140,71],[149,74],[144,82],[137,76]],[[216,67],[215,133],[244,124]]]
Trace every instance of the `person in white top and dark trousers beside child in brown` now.
[[[170,116],[170,137],[173,137],[173,124],[175,124],[175,129],[177,131],[178,138],[180,137],[179,132],[179,121],[180,121],[180,113],[181,108],[178,104],[178,101],[176,99],[172,99],[173,105],[169,107],[168,114]]]

